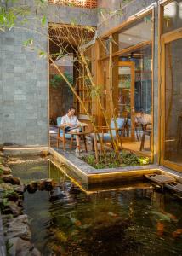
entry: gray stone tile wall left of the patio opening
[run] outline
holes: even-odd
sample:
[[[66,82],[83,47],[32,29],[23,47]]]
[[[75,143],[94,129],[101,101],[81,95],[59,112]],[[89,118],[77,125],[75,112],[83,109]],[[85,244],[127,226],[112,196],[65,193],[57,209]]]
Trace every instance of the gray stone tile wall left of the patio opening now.
[[[0,143],[48,145],[48,61],[23,47],[33,38],[38,48],[48,49],[47,28],[45,36],[37,34],[33,13],[27,25],[0,32]]]

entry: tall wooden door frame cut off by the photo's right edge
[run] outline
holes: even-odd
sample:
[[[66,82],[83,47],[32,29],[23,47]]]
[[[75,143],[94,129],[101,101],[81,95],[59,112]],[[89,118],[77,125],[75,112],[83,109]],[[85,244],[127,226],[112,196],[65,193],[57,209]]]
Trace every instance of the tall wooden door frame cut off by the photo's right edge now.
[[[164,159],[165,153],[165,122],[166,122],[166,63],[165,63],[165,45],[171,43],[175,40],[182,38],[182,28],[176,29],[173,32],[168,32],[167,34],[162,35],[161,37],[161,157],[160,164],[162,166],[167,166],[176,171],[181,171],[182,166],[178,165],[172,161]]]

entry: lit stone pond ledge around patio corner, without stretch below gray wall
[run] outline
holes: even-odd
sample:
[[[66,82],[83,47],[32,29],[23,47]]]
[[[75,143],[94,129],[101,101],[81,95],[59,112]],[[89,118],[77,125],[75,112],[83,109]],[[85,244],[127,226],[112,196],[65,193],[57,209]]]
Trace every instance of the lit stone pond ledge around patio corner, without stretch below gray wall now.
[[[84,183],[84,187],[97,183],[132,183],[142,180],[145,174],[158,173],[168,174],[182,182],[182,173],[175,172],[163,166],[127,166],[121,168],[95,169],[84,161],[77,158],[75,154],[64,153],[61,149],[50,149],[50,153],[56,160],[61,161],[69,168],[69,175],[77,177],[79,182]]]

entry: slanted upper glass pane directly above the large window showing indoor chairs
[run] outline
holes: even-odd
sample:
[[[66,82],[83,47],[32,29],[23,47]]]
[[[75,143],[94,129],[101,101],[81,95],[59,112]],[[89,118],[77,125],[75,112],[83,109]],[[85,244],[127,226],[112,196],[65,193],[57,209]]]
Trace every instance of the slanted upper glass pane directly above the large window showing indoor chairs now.
[[[152,16],[147,15],[118,32],[119,49],[150,41],[152,38]]]

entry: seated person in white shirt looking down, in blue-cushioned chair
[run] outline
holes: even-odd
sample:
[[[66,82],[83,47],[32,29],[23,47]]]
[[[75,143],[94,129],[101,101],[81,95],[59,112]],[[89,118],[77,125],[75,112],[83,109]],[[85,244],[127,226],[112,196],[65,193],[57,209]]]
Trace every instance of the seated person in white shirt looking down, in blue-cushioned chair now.
[[[78,121],[77,116],[75,115],[76,109],[74,107],[70,107],[68,109],[68,113],[65,114],[61,119],[61,125],[65,126],[65,132],[67,131],[74,131],[79,132],[81,123]],[[66,129],[67,128],[67,129]],[[79,153],[80,148],[80,138],[79,136],[76,136],[76,153]]]

